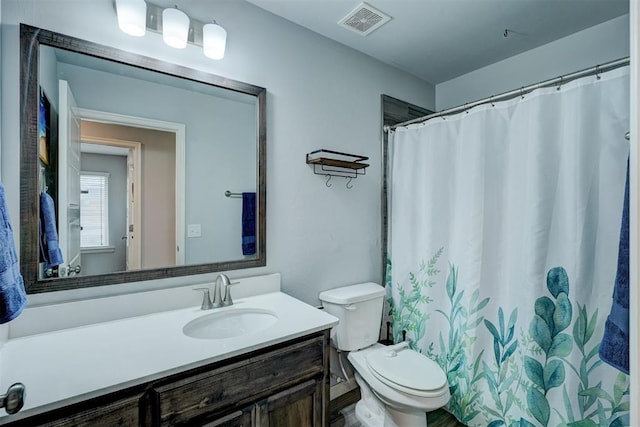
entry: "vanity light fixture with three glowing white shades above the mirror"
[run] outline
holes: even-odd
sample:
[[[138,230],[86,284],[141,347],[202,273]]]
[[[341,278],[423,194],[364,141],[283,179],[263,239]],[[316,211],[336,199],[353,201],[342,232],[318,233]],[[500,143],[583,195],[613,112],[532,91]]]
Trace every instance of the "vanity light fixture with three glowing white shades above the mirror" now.
[[[191,43],[201,46],[208,58],[224,58],[227,31],[216,21],[205,24],[189,18],[178,6],[165,9],[144,0],[115,0],[115,6],[118,25],[127,34],[143,36],[146,28],[162,34],[164,42],[176,49],[184,49]]]

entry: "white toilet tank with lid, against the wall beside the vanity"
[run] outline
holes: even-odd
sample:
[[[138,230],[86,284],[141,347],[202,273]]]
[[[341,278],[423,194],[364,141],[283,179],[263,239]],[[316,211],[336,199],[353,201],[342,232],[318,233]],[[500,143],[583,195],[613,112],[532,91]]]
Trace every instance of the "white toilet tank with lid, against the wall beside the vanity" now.
[[[338,350],[359,350],[378,341],[385,290],[377,283],[360,283],[321,292],[325,310],[340,319],[331,332]]]

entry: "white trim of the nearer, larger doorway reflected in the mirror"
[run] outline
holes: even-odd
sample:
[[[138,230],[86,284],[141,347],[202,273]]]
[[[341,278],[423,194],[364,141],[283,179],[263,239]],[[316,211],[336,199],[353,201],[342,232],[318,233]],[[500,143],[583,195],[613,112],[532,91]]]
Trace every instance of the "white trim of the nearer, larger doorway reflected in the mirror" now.
[[[159,130],[175,134],[176,157],[176,265],[185,263],[185,144],[186,125],[146,117],[109,113],[105,111],[78,108],[78,117],[92,122],[123,125],[143,129]]]

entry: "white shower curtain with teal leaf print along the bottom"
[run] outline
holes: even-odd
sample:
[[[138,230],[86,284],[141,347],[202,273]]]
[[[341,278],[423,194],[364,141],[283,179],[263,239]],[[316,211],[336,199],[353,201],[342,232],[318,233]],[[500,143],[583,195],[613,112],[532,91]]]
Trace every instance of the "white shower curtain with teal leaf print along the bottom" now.
[[[387,302],[470,426],[623,426],[598,356],[629,144],[628,67],[396,129]]]

